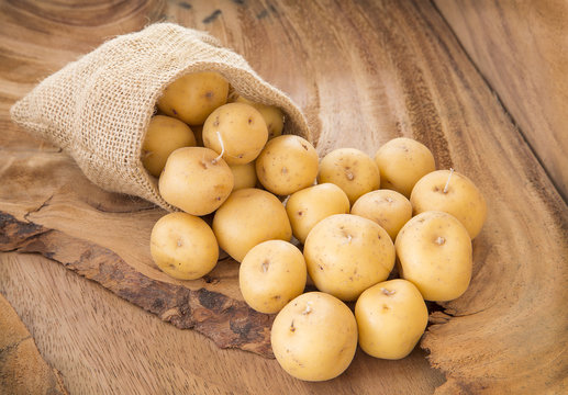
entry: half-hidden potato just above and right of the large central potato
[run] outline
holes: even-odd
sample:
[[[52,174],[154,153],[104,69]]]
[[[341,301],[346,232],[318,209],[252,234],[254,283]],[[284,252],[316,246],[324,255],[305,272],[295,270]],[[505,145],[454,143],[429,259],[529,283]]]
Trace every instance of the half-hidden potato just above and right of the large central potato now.
[[[400,228],[412,217],[412,205],[399,192],[377,190],[357,199],[352,214],[376,222],[394,241]]]

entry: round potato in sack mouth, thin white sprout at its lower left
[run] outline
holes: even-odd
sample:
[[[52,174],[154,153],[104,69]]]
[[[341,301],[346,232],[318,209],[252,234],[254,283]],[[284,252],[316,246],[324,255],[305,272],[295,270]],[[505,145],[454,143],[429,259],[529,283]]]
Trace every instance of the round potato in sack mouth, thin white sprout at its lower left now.
[[[229,103],[211,113],[203,124],[203,145],[223,155],[229,165],[245,165],[263,150],[268,131],[253,106]]]

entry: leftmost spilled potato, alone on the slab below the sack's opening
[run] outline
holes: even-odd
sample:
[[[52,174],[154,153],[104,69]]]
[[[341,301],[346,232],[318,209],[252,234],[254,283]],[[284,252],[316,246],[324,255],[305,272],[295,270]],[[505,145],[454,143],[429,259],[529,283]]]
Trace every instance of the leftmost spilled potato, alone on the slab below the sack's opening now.
[[[203,219],[186,213],[159,218],[152,229],[149,247],[158,268],[179,280],[205,275],[219,258],[213,230]]]

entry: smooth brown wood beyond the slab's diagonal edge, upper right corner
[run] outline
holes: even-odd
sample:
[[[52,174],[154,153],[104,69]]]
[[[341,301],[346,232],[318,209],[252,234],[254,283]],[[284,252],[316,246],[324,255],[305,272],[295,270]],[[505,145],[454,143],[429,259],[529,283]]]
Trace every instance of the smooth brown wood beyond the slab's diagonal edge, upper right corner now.
[[[435,4],[568,201],[568,3]]]

